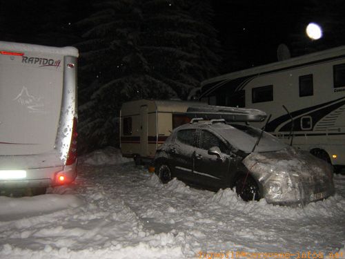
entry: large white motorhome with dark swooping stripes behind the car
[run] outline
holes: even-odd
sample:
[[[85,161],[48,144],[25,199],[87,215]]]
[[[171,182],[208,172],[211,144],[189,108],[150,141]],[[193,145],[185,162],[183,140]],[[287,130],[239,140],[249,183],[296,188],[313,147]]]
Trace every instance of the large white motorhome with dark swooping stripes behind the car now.
[[[345,165],[345,46],[208,79],[196,92],[208,104],[265,111],[266,131]]]

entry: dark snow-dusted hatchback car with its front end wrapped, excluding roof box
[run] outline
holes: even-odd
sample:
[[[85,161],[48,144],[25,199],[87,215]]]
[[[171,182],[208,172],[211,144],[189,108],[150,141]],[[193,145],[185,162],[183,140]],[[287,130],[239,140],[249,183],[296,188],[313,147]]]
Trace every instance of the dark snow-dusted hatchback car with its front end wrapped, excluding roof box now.
[[[161,182],[177,178],[243,200],[304,205],[333,195],[332,167],[265,131],[224,120],[193,119],[175,128],[155,155]]]

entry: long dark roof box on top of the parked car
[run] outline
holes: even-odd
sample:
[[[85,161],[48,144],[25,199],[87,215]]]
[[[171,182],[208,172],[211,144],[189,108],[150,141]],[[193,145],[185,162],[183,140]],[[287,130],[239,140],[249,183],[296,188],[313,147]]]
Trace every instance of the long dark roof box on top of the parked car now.
[[[186,115],[190,118],[225,119],[226,122],[263,122],[267,115],[263,111],[224,106],[191,106]]]

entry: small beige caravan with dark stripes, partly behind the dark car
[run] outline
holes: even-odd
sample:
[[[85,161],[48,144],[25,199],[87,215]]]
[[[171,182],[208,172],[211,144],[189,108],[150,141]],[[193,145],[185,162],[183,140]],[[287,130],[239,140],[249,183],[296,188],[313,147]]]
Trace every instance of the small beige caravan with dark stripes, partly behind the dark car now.
[[[189,103],[190,104],[190,103]],[[198,103],[197,103],[198,104]],[[172,128],[188,123],[188,102],[140,99],[121,106],[120,139],[124,157],[136,164],[152,160]]]

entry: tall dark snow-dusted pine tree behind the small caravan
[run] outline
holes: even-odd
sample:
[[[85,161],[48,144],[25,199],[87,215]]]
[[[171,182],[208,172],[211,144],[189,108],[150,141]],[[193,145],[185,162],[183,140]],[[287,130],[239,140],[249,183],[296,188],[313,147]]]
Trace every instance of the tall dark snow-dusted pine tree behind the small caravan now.
[[[210,4],[108,0],[78,25],[81,151],[116,145],[119,109],[130,99],[186,99],[215,75],[219,57]]]

